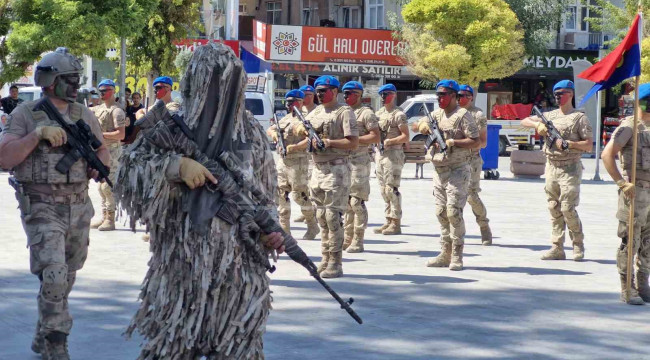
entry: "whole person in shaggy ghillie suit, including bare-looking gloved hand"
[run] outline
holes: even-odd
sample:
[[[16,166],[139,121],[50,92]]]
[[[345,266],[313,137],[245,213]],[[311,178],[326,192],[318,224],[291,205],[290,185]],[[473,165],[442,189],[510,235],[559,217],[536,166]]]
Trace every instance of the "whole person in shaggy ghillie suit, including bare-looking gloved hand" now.
[[[138,120],[142,135],[120,158],[120,207],[132,228],[140,221],[151,234],[142,302],[127,330],[147,341],[139,359],[264,358],[271,308],[265,248],[284,247],[276,230],[263,235],[257,227],[270,228],[261,226],[260,214],[277,223],[272,201],[264,205],[270,213],[242,210],[248,191],[272,194],[277,179],[266,135],[244,111],[245,79],[227,47],[198,48],[183,77],[179,112],[170,114],[159,100]],[[226,152],[241,163],[250,188],[213,157]],[[265,248],[253,240],[260,235]]]

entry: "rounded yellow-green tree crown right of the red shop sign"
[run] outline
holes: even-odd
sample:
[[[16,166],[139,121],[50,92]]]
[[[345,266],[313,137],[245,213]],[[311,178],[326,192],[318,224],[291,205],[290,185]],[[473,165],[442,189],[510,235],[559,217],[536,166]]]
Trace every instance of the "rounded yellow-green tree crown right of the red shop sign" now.
[[[403,57],[425,80],[477,86],[523,66],[523,30],[503,0],[413,0],[402,16]]]

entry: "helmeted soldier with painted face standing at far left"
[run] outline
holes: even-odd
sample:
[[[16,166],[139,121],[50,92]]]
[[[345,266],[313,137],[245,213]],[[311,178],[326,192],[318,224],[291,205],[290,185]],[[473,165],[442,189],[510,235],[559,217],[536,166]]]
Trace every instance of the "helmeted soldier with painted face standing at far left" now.
[[[95,115],[75,102],[82,70],[81,63],[66,48],[58,48],[43,56],[34,80],[66,121],[83,119],[102,142]],[[83,158],[67,173],[55,169],[69,151],[65,146],[67,134],[44,111],[35,111],[35,104],[22,103],[9,115],[0,137],[0,167],[13,169],[30,249],[30,270],[41,282],[32,350],[44,358],[61,360],[70,358],[67,336],[72,317],[68,295],[88,253],[88,232],[94,214],[88,180],[97,178],[97,173],[89,170]],[[96,154],[109,164],[110,155],[103,142]]]

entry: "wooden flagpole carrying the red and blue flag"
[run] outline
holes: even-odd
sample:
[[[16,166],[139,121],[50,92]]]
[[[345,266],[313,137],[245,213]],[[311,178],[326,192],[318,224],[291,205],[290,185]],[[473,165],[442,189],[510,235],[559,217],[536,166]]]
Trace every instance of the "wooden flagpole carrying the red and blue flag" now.
[[[643,34],[643,12],[641,12],[641,1],[639,1],[639,51],[641,50],[641,35]],[[639,64],[641,65],[641,64]],[[630,182],[636,187],[636,160],[637,160],[637,148],[638,148],[638,134],[639,126],[637,124],[640,114],[639,114],[639,86],[641,82],[641,76],[637,75],[634,77],[634,122],[632,125],[632,169],[630,170]],[[630,198],[630,216],[628,217],[628,230],[627,230],[627,300],[629,301],[632,298],[632,261],[634,260],[634,207],[636,203],[636,194]]]

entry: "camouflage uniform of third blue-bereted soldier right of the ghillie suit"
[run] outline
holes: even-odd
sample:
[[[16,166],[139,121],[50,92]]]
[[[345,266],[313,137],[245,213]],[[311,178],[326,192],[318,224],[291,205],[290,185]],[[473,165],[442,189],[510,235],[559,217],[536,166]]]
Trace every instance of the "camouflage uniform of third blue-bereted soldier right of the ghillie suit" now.
[[[359,136],[377,129],[377,117],[371,108],[358,106],[353,108],[357,120]],[[368,226],[368,209],[365,202],[370,195],[370,154],[368,146],[359,145],[350,155],[350,201],[345,213],[345,242],[348,252],[363,251],[363,236]],[[347,246],[344,246],[347,247]]]

